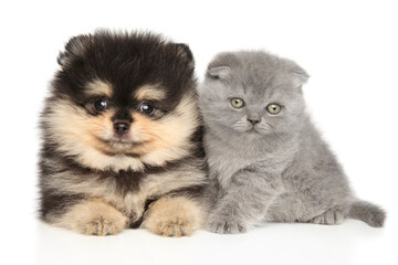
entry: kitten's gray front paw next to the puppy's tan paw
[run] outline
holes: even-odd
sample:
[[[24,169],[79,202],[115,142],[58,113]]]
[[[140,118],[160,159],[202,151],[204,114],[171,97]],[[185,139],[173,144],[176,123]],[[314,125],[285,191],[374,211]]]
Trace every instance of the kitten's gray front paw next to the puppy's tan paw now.
[[[227,216],[212,215],[207,223],[207,230],[219,234],[238,234],[248,231],[244,222],[228,219]]]

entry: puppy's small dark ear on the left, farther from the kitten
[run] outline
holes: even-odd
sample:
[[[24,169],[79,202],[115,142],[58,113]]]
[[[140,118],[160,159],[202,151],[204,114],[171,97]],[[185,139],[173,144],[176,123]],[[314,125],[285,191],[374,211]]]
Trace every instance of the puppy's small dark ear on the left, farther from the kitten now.
[[[84,54],[85,50],[94,44],[94,36],[77,35],[73,36],[65,45],[65,51],[60,52],[56,61],[61,66],[66,65],[71,60],[80,57]]]

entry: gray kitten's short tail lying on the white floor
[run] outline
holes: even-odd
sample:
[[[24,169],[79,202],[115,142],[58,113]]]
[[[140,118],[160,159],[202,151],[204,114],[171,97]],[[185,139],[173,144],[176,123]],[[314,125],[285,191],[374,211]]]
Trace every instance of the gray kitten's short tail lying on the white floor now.
[[[373,227],[381,227],[386,220],[386,212],[370,202],[355,201],[350,205],[348,218],[364,221]]]

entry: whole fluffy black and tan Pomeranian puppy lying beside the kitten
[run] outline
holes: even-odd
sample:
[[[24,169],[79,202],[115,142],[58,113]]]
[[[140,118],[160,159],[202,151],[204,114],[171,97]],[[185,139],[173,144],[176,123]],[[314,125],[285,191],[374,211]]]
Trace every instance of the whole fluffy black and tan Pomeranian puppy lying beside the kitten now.
[[[87,235],[203,225],[201,123],[189,47],[97,31],[60,53],[42,112],[41,218]]]

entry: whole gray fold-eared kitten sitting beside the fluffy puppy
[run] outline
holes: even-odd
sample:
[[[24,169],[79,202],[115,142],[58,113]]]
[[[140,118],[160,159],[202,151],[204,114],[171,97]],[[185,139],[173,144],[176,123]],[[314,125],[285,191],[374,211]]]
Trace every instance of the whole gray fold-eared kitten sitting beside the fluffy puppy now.
[[[218,201],[207,229],[244,232],[260,221],[380,227],[385,212],[356,199],[302,95],[308,75],[265,52],[221,53],[199,91],[205,148]]]

